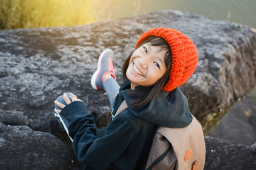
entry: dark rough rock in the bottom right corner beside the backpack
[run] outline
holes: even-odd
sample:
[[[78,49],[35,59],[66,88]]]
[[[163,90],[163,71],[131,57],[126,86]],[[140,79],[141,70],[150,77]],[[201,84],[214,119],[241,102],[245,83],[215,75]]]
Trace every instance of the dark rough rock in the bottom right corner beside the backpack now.
[[[233,145],[227,141],[205,137],[205,170],[256,169],[256,147]]]

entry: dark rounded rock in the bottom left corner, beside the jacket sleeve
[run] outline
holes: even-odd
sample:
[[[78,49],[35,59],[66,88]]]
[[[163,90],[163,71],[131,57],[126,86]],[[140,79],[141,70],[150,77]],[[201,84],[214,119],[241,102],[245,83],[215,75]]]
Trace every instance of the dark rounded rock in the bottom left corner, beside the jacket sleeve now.
[[[76,157],[52,134],[0,122],[0,169],[72,169]]]

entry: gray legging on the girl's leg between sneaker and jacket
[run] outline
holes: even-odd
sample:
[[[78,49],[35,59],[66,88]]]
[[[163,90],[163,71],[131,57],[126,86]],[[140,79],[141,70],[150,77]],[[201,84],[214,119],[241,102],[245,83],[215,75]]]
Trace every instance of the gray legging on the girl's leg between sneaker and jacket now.
[[[106,81],[104,81],[103,88],[108,95],[110,106],[111,108],[113,108],[113,104],[115,102],[115,95],[118,92],[120,85],[118,85],[117,81],[114,78],[108,78]]]

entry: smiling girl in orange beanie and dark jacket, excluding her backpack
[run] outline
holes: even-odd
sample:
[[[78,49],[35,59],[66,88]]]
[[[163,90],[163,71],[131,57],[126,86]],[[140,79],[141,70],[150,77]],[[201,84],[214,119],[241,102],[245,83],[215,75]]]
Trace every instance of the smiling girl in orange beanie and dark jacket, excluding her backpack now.
[[[97,129],[86,104],[74,95],[63,94],[63,103],[55,101],[57,111],[69,122],[68,134],[84,169],[145,169],[157,126],[186,127],[192,120],[178,87],[195,71],[196,48],[175,29],[144,32],[124,62],[121,87],[115,80],[112,55],[109,49],[102,52],[91,80],[93,89],[108,94],[112,108],[108,126]],[[115,117],[124,100],[128,109]]]

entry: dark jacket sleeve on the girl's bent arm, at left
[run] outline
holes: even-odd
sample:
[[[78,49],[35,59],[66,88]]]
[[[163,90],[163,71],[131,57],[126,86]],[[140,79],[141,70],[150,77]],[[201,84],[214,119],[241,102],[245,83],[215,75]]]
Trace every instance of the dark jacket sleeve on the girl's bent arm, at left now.
[[[97,128],[92,114],[86,110],[85,103],[75,101],[61,111],[70,122],[69,134],[74,152],[80,162],[95,169],[106,169],[124,153],[129,146],[134,131],[131,124],[122,116],[114,118],[97,138]]]

